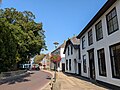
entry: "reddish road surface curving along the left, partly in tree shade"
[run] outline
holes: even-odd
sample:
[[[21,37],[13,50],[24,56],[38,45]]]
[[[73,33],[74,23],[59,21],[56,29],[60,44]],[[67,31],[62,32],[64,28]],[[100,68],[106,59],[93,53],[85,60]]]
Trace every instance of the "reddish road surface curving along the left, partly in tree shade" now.
[[[0,90],[40,90],[50,81],[52,75],[43,71],[32,71],[30,76],[12,80],[0,85]]]

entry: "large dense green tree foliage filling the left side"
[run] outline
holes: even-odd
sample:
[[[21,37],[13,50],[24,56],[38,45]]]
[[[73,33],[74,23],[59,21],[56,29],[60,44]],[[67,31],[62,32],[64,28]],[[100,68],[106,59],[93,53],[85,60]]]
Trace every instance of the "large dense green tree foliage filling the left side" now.
[[[15,69],[46,49],[42,23],[34,19],[30,11],[0,9],[0,72]]]

